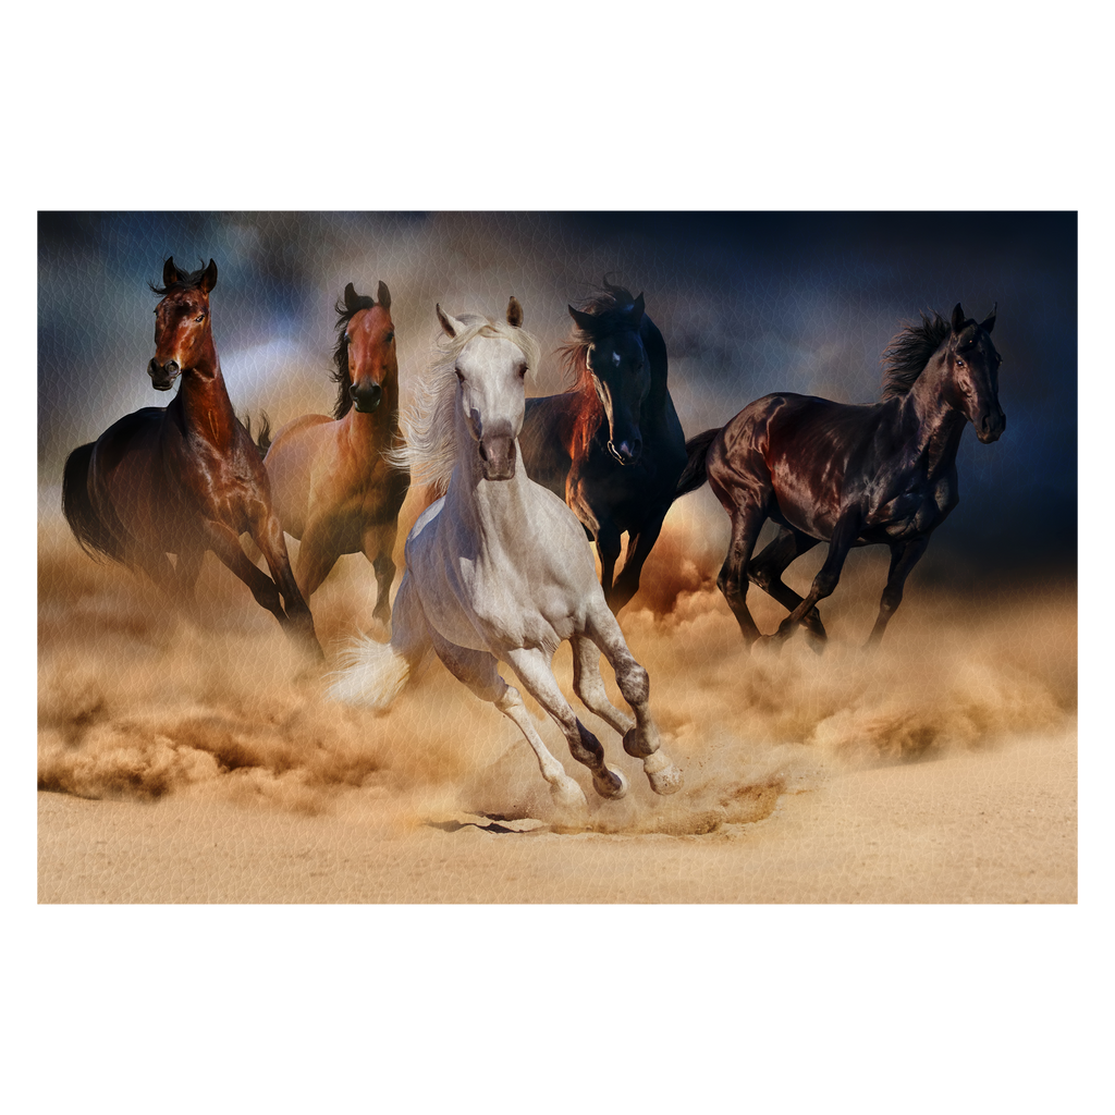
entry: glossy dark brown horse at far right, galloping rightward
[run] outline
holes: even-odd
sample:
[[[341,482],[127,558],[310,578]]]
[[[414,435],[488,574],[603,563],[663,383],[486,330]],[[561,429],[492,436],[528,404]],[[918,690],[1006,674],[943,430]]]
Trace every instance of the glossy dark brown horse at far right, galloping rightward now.
[[[759,638],[747,610],[748,580],[789,610],[774,638],[786,638],[799,623],[824,639],[815,605],[836,588],[849,549],[882,543],[891,547],[891,568],[869,639],[879,642],[930,534],[959,502],[956,462],[964,423],[985,444],[1006,428],[993,326],[995,310],[977,324],[959,303],[951,321],[922,314],[920,326],[903,329],[883,352],[881,403],[767,395],[687,444],[678,495],[707,478],[731,517],[717,583],[747,643]],[[768,517],[782,530],[752,561]],[[828,556],[803,599],[782,574],[822,541]]]

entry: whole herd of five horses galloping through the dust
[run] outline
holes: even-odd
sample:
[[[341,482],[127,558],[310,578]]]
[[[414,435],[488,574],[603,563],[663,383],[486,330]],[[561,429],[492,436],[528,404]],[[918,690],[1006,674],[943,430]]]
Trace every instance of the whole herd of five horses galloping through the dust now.
[[[181,386],[169,406],[127,415],[69,455],[62,511],[78,542],[147,573],[187,609],[211,550],[319,661],[308,601],[339,556],[362,552],[378,584],[374,615],[390,621],[390,641],[363,638],[350,647],[330,694],[387,708],[433,652],[520,728],[554,798],[566,805],[582,806],[584,795],[497,663],[506,662],[558,724],[597,793],[617,798],[626,777],[607,766],[551,670],[569,640],[580,699],[643,760],[656,793],[677,791],[682,776],[659,746],[647,671],[615,620],[638,592],[676,498],[707,481],[731,520],[718,585],[747,643],[762,638],[746,604],[748,582],[789,612],[769,638],[801,626],[824,640],[816,605],[835,589],[849,550],[890,546],[871,633],[878,642],[930,534],[957,504],[964,424],[983,443],[1006,425],[990,338],[995,311],[977,322],[958,304],[950,318],[922,314],[894,337],[883,353],[879,403],[776,392],[686,442],[662,334],[641,294],[605,281],[586,304],[569,308],[574,329],[561,352],[573,386],[544,398],[525,397],[540,351],[516,299],[503,320],[437,307],[437,357],[400,430],[391,299],[380,282],[375,298],[349,283],[337,303],[332,417],[304,415],[273,437],[264,423],[256,443],[233,413],[213,342],[216,275],[212,260],[188,272],[168,259],[162,287],[152,287],[161,301],[147,372],[156,390]],[[438,498],[407,537],[392,613],[392,551],[411,483],[432,485]],[[753,559],[767,518],[778,534]],[[301,541],[297,570],[284,532]],[[245,554],[245,533],[270,578]],[[600,582],[585,535],[595,542]],[[801,597],[782,576],[818,542],[828,543],[828,554]],[[601,653],[633,720],[607,697]]]

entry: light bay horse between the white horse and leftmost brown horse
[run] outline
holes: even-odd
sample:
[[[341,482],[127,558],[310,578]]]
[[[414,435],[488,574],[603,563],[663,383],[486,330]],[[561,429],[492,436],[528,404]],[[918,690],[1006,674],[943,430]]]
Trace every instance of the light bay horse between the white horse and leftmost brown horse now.
[[[399,366],[395,357],[391,295],[380,282],[379,301],[357,294],[352,283],[337,303],[333,350],[337,405],[333,417],[303,415],[260,448],[271,477],[283,530],[302,545],[298,585],[309,600],[341,554],[362,552],[376,571],[372,614],[391,615],[395,535],[409,474],[384,454],[398,447]]]

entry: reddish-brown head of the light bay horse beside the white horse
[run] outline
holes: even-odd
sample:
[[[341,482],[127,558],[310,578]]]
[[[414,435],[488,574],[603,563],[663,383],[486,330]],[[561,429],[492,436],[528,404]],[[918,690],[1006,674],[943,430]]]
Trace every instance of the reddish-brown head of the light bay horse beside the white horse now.
[[[358,294],[352,283],[345,288],[345,299],[337,303],[338,340],[333,351],[337,382],[334,418],[350,409],[372,414],[385,395],[396,396],[399,366],[395,356],[395,324],[391,322],[391,294],[380,282],[378,301]],[[391,407],[394,409],[394,406]]]

